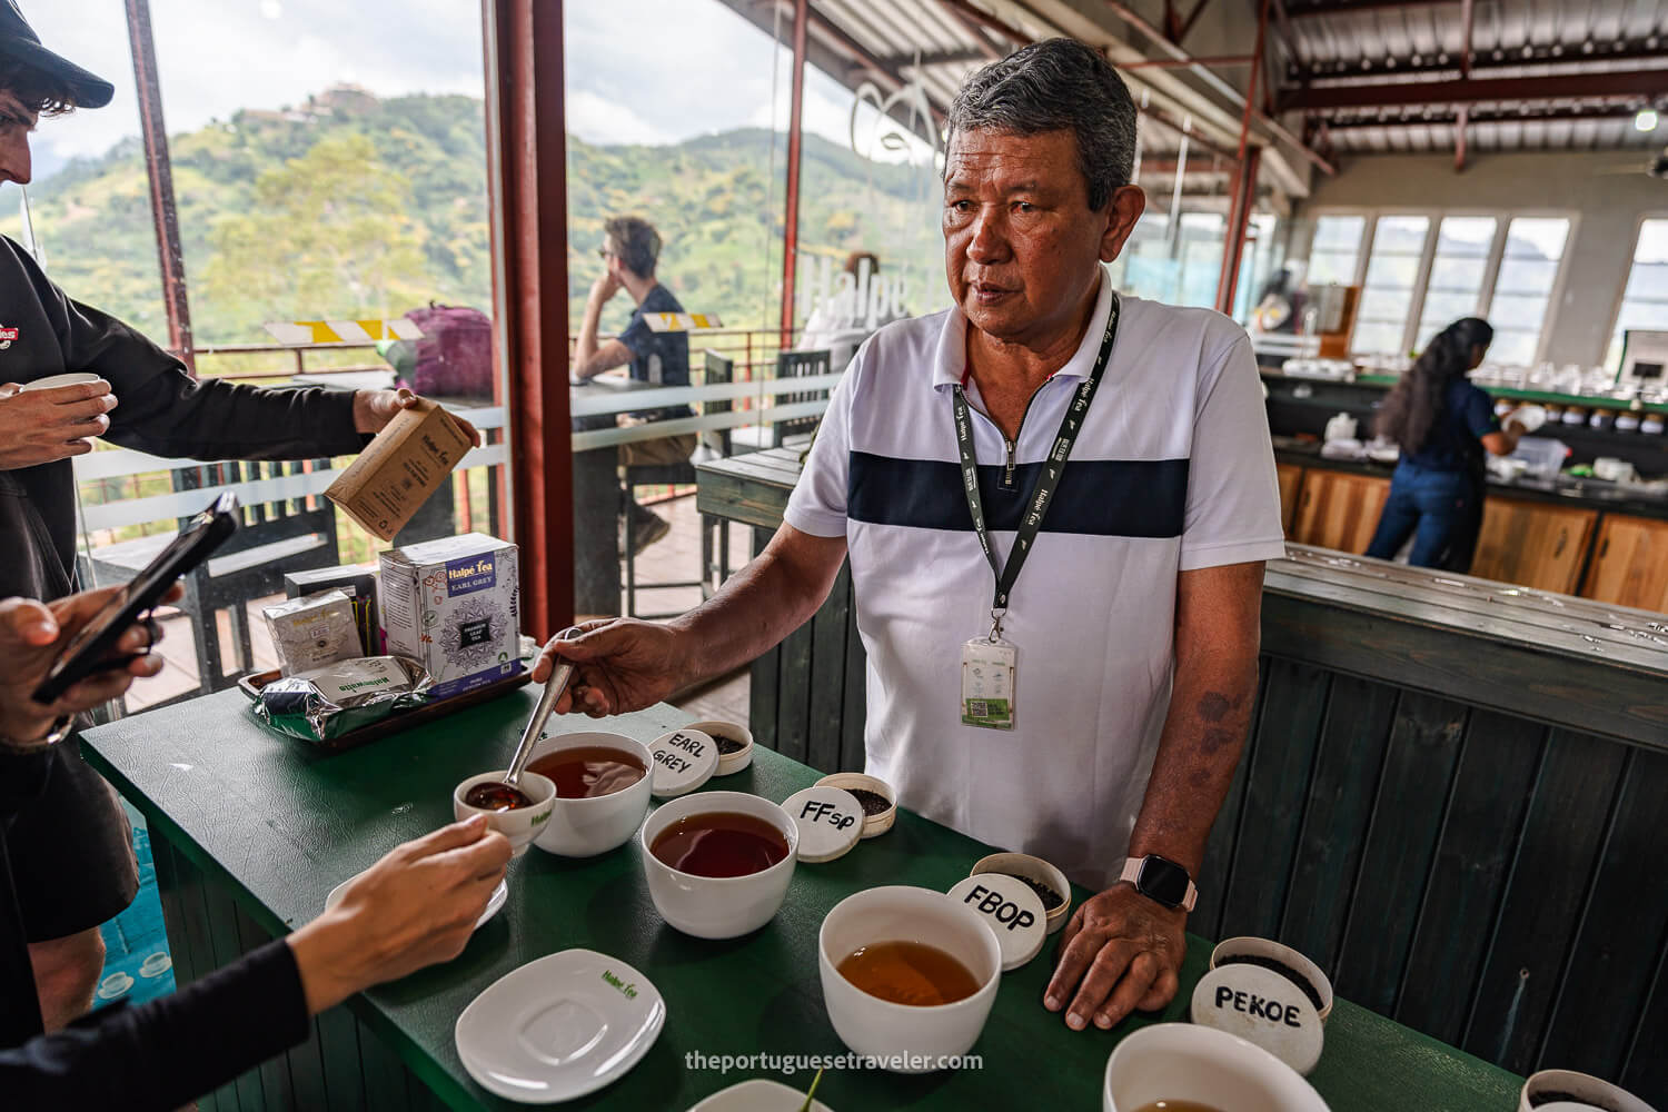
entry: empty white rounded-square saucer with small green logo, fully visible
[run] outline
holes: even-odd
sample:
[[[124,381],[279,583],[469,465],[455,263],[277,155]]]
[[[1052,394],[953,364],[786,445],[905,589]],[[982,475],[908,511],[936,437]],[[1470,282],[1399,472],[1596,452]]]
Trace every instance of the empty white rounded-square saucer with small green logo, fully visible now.
[[[555,1104],[624,1075],[664,1025],[666,1002],[647,977],[595,950],[562,950],[487,985],[452,1037],[487,1092]]]

